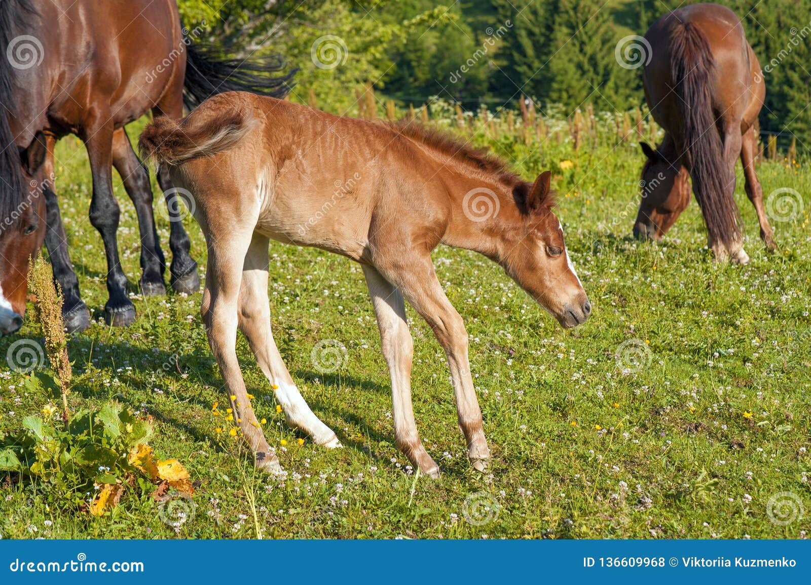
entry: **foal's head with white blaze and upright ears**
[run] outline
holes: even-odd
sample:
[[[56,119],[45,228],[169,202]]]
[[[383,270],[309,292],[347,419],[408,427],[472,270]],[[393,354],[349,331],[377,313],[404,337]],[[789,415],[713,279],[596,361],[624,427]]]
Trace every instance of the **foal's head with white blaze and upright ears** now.
[[[513,189],[521,219],[516,229],[504,231],[506,247],[500,263],[561,326],[575,327],[589,318],[591,303],[552,212],[550,179],[551,173],[545,171],[531,186],[521,183]]]

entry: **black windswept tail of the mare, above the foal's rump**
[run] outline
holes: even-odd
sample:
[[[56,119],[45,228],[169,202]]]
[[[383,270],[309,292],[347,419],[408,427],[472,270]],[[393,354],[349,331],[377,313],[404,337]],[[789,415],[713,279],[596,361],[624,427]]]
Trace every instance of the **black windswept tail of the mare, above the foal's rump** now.
[[[223,92],[251,92],[260,96],[283,98],[293,88],[298,69],[282,75],[281,58],[235,59],[187,36],[186,79],[183,80],[183,105],[195,109],[209,97]]]

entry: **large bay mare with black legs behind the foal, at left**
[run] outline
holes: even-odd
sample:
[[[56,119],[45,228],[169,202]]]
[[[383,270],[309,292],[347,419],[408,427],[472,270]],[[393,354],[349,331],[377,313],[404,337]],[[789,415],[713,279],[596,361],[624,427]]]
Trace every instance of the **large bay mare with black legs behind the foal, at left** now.
[[[113,167],[138,215],[141,291],[165,292],[149,176],[124,126],[150,110],[179,119],[184,100],[191,108],[230,89],[283,96],[290,79],[267,75],[277,64],[217,58],[194,36],[182,28],[174,0],[0,2],[0,333],[22,325],[28,258],[43,241],[62,287],[67,329],[89,325],[54,194],[54,144],[67,134],[84,141],[92,169],[90,221],[105,246],[107,322],[127,325],[135,318],[118,260]],[[200,277],[171,200],[177,196],[168,173],[159,173],[158,182],[169,204],[171,285],[195,291]]]

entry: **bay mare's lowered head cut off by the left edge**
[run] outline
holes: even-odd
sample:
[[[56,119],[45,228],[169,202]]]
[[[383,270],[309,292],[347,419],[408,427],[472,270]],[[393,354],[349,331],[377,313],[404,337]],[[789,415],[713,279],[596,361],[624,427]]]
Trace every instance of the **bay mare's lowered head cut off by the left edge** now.
[[[43,166],[47,146],[37,132],[28,147],[11,144],[2,160],[0,190],[0,334],[22,327],[28,263],[45,240]],[[13,154],[13,156],[8,156]]]

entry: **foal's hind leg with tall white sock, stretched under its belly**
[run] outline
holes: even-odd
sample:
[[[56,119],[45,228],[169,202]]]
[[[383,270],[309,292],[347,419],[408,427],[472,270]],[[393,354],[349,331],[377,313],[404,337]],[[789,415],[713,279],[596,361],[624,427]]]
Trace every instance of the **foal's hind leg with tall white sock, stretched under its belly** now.
[[[268,299],[268,238],[258,233],[253,235],[242,266],[239,329],[251,345],[256,363],[273,386],[287,423],[309,434],[317,445],[341,446],[333,430],[324,425],[305,402],[273,340]]]

